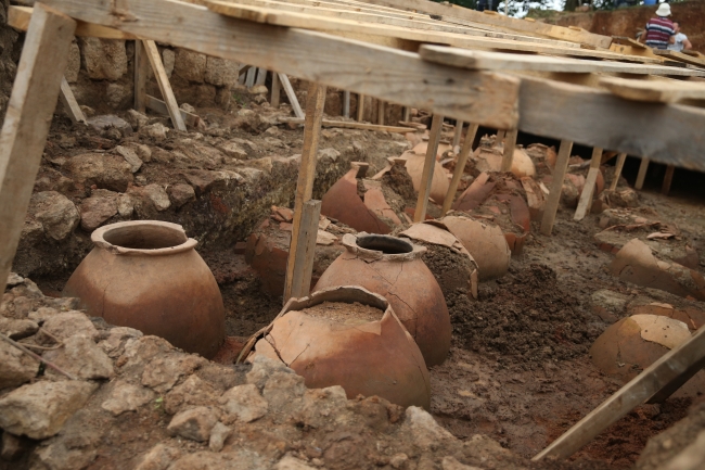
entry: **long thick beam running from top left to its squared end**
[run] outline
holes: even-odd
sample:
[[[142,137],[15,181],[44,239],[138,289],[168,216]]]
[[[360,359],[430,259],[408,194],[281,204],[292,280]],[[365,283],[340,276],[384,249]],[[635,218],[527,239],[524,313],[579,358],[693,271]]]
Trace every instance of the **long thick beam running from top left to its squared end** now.
[[[84,21],[111,24],[176,47],[493,128],[516,125],[515,77],[439,67],[418,54],[316,31],[239,21],[182,2],[126,3],[126,11],[134,18],[127,22],[116,18],[107,3],[47,1]],[[165,15],[165,11],[169,14]],[[233,31],[238,31],[238,40],[233,40]]]

